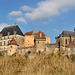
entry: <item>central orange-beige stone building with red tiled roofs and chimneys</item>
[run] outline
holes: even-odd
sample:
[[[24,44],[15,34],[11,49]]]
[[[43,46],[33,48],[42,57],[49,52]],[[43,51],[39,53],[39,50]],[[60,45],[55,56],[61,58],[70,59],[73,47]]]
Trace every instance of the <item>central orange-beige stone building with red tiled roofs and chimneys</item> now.
[[[36,33],[35,30],[25,33],[24,39],[24,46],[35,46],[36,52],[44,51],[46,47],[45,45],[50,44],[50,38],[41,32],[41,30],[39,30],[38,33]]]

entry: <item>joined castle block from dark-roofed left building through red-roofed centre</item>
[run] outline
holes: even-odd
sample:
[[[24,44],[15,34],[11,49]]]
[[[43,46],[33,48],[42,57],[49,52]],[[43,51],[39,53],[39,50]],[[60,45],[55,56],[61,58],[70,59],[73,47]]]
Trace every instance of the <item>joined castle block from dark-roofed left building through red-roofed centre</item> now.
[[[47,37],[44,32],[39,30],[36,33],[33,30],[23,35],[17,23],[4,27],[0,32],[0,52],[4,55],[12,55],[16,50],[23,55],[28,51],[43,52],[46,50],[46,44],[50,44],[50,37]]]

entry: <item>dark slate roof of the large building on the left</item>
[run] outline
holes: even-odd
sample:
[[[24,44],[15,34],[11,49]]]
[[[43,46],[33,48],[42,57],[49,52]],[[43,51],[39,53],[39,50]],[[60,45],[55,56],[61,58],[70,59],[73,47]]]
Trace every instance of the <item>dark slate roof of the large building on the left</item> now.
[[[13,35],[14,31],[16,31],[16,34],[23,36],[23,33],[20,30],[20,28],[18,27],[18,25],[4,27],[0,33],[2,33],[3,36],[7,36],[8,32],[10,32],[10,35]]]

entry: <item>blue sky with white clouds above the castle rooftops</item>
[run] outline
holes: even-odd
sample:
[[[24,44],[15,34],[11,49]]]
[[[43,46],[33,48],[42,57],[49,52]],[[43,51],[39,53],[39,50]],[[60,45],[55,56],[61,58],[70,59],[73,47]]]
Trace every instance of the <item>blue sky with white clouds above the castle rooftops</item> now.
[[[75,27],[75,0],[0,0],[0,10],[0,30],[17,22],[24,34],[41,30],[51,43]]]

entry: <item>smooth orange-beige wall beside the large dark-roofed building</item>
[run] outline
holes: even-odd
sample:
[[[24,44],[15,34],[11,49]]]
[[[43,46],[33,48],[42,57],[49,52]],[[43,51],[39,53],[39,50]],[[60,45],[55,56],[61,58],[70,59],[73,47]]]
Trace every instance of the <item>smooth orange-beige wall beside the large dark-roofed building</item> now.
[[[24,47],[31,47],[31,46],[34,46],[34,36],[26,35],[24,37]]]

